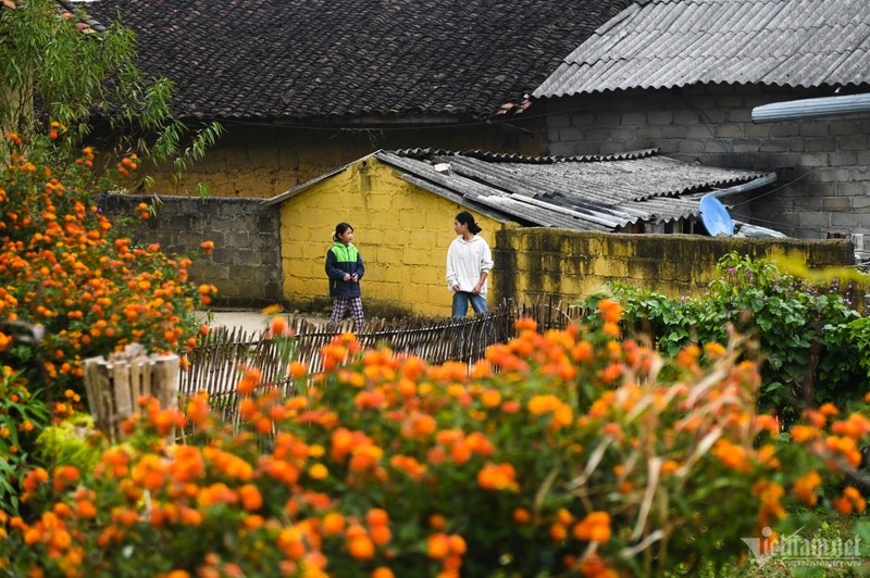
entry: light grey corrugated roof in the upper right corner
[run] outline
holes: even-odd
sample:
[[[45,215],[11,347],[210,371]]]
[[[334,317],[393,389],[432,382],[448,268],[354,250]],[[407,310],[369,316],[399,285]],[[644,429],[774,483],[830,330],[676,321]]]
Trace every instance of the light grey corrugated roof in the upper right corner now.
[[[534,97],[692,84],[870,83],[868,0],[648,0],[574,50]]]

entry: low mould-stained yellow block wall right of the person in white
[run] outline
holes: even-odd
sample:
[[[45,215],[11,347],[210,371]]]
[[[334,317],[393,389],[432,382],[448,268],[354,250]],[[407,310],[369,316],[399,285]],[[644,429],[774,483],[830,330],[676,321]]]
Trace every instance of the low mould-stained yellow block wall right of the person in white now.
[[[853,262],[843,240],[747,239],[700,235],[619,235],[539,227],[496,234],[493,281],[498,294],[519,302],[594,293],[608,281],[636,285],[671,298],[699,296],[716,278],[716,264],[736,251],[769,257],[773,251],[797,256],[812,267]]]

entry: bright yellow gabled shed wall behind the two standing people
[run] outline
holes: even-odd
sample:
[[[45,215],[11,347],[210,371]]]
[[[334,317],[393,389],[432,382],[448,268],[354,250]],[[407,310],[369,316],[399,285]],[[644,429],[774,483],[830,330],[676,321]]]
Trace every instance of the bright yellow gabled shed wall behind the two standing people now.
[[[281,205],[284,297],[309,304],[328,297],[324,271],[332,234],[340,222],[353,227],[353,244],[365,264],[362,302],[407,312],[450,315],[447,248],[456,238],[461,205],[406,183],[369,156]],[[495,251],[497,221],[473,213],[481,236]],[[488,301],[495,303],[489,285]]]

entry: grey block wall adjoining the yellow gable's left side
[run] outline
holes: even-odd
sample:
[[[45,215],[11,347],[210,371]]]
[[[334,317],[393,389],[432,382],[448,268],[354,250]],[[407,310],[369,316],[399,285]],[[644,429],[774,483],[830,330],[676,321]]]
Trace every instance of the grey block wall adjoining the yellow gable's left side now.
[[[100,206],[110,217],[133,215],[151,197],[107,194]],[[134,242],[160,243],[166,253],[194,254],[213,241],[210,256],[195,257],[189,276],[217,287],[216,305],[264,306],[282,302],[277,206],[260,199],[160,197],[157,215],[139,222]]]

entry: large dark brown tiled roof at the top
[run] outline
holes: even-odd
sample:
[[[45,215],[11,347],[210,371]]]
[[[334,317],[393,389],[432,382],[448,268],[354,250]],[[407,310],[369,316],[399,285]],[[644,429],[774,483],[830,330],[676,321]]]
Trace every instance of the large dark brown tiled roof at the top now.
[[[174,113],[219,120],[488,117],[517,104],[631,0],[98,0],[176,84]]]

